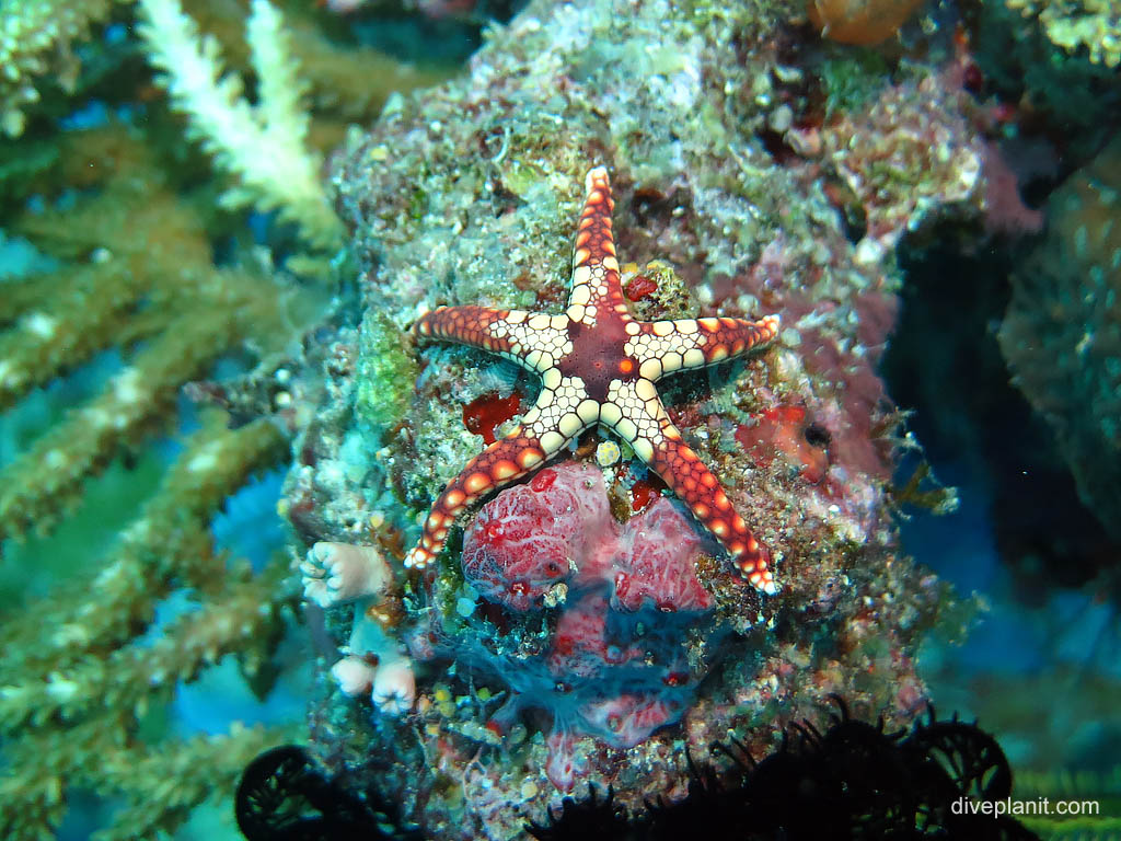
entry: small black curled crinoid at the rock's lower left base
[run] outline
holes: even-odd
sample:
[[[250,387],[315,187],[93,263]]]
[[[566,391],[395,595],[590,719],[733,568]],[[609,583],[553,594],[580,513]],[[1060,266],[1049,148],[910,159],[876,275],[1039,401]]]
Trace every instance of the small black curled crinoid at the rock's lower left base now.
[[[396,810],[376,792],[348,791],[295,745],[267,750],[245,767],[234,813],[248,841],[420,838],[399,826]]]

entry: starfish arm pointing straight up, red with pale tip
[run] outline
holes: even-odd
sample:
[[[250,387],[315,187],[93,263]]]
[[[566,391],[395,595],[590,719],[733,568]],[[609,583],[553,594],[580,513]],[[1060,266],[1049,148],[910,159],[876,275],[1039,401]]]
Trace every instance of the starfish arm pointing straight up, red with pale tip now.
[[[600,313],[614,311],[617,317],[629,320],[611,233],[611,211],[615,203],[611,198],[608,170],[597,166],[589,172],[584,190],[584,212],[580,215],[572,257],[568,317],[594,324]]]

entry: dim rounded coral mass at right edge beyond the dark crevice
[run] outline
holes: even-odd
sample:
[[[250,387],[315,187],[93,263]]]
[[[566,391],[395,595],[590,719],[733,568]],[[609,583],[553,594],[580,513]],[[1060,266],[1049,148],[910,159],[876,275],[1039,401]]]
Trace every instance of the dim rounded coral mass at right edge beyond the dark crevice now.
[[[1012,278],[1001,351],[1053,426],[1078,493],[1121,538],[1121,144],[1048,202],[1048,233]]]

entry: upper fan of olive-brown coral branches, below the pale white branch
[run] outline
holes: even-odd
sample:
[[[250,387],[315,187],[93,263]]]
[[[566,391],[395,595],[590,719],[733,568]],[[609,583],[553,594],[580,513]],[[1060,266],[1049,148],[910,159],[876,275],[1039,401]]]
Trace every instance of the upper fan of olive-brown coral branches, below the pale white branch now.
[[[245,339],[276,349],[291,338],[295,312],[309,308],[260,270],[215,270],[200,220],[155,169],[133,168],[19,230],[65,262],[12,289],[22,306],[0,333],[0,407],[96,351],[148,341],[101,395],[0,470],[0,538],[48,527],[87,477],[166,423],[185,382]]]

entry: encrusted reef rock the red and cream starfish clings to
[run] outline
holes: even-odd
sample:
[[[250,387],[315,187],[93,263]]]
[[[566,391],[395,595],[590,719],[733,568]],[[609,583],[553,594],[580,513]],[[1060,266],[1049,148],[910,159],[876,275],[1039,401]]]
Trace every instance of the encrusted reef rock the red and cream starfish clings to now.
[[[831,693],[891,727],[924,709],[916,646],[951,597],[898,552],[890,515],[898,415],[874,366],[899,277],[890,248],[860,252],[846,235],[830,158],[769,149],[797,101],[779,25],[793,15],[532,3],[465,78],[391,101],[333,161],[364,316],[297,443],[286,509],[307,547],[365,547],[392,581],[322,613],[351,658],[335,669],[350,693],[325,660],[311,749],[328,771],[377,780],[428,837],[519,837],[577,777],[629,811],[680,798],[689,751],[734,737],[761,757]],[[970,130],[954,96],[908,104],[919,87],[897,89],[900,120],[916,108]],[[921,174],[924,216],[983,186],[911,164],[892,177]],[[435,563],[400,564],[478,433],[516,423],[472,431],[465,407],[511,395],[527,407],[537,389],[498,357],[413,346],[408,327],[439,305],[563,309],[597,165],[636,317],[781,320],[769,349],[661,387],[771,551],[777,595],[594,431],[464,512]],[[370,696],[387,660],[413,680],[407,709]]]

